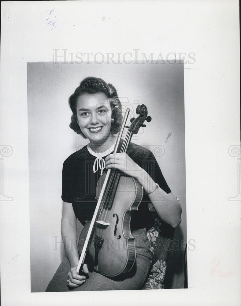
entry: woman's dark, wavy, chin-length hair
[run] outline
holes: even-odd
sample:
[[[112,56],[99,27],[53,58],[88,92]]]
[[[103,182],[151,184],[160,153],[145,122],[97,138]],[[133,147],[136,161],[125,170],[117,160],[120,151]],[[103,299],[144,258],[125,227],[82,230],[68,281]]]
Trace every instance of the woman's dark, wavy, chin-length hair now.
[[[69,127],[73,129],[77,134],[81,134],[84,138],[84,134],[77,123],[77,111],[76,103],[80,95],[84,94],[95,94],[98,92],[103,92],[109,98],[109,104],[111,107],[111,121],[110,132],[116,134],[120,131],[122,122],[122,106],[117,95],[117,91],[112,84],[107,84],[101,78],[94,76],[89,76],[80,82],[80,85],[76,88],[75,92],[69,97],[69,107],[72,110],[71,123]]]

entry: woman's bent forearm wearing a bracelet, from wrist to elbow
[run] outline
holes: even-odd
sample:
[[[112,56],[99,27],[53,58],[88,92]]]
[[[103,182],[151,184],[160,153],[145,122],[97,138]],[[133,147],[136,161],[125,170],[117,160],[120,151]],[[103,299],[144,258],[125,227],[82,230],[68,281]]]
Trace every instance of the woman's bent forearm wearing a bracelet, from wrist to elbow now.
[[[139,174],[136,175],[136,179],[143,186],[146,192],[150,192],[154,189],[155,183],[150,175],[140,168]],[[181,205],[176,197],[171,193],[166,193],[160,187],[154,192],[149,194],[152,205],[154,206],[158,216],[171,225],[177,227],[181,223]]]

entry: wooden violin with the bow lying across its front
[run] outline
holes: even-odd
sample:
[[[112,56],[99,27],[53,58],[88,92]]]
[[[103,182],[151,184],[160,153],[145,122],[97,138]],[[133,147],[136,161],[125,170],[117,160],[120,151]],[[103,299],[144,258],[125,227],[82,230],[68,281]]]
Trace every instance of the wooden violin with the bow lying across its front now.
[[[137,118],[131,118],[131,125],[125,126],[130,109],[125,112],[114,153],[126,152],[132,135],[150,122],[147,108],[138,105]],[[121,147],[120,139],[124,128],[128,128]],[[118,149],[120,147],[120,149]],[[143,197],[142,185],[131,176],[116,169],[103,174],[96,187],[98,200],[93,218],[86,224],[78,240],[80,255],[76,271],[81,273],[85,259],[91,261],[93,271],[114,277],[131,270],[135,263],[135,241],[130,229],[131,216]]]

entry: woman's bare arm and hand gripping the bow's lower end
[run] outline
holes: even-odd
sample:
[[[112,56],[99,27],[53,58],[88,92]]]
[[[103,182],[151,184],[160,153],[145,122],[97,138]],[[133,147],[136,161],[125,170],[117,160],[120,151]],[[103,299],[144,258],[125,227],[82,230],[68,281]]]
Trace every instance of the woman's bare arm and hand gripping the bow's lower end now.
[[[79,263],[79,253],[77,249],[77,228],[76,216],[72,207],[72,203],[63,201],[63,211],[61,219],[61,234],[64,241],[65,250],[69,259],[71,270],[68,273],[69,286],[78,287],[85,282],[85,277],[76,272]],[[87,265],[83,265],[83,271],[89,273]],[[66,279],[67,280],[67,279]]]

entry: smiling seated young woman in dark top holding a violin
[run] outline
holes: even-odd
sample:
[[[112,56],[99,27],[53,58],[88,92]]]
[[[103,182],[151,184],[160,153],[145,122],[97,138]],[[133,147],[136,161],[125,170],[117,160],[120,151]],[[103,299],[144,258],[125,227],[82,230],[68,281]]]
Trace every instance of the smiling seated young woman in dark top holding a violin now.
[[[127,153],[113,154],[115,134],[122,119],[121,103],[113,85],[100,78],[87,77],[70,96],[69,106],[72,110],[70,127],[90,142],[63,164],[61,233],[68,260],[61,263],[46,291],[141,289],[151,265],[146,227],[153,218],[147,203],[151,202],[161,220],[173,228],[181,222],[180,204],[149,150],[130,143]],[[89,273],[86,264],[83,265],[86,275],[79,275],[76,272],[79,253],[73,247],[73,241],[77,241],[76,218],[82,224],[91,220],[97,203],[98,179],[111,168],[134,177],[144,189],[138,211],[131,218],[135,263],[128,273],[117,277]]]

